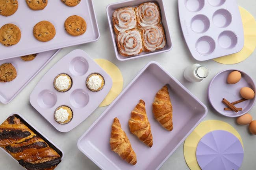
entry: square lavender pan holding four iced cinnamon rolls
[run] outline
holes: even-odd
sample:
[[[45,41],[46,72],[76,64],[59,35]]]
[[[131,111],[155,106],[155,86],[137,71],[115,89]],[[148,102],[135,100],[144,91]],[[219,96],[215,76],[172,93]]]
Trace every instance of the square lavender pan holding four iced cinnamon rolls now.
[[[113,23],[112,23],[112,16],[113,16],[113,12],[116,9],[122,8],[122,7],[136,7],[139,6],[140,4],[144,3],[144,2],[155,2],[156,4],[158,4],[158,7],[160,9],[161,12],[161,23],[163,25],[163,29],[165,31],[165,38],[166,38],[166,45],[163,49],[160,50],[156,50],[153,52],[142,52],[139,55],[135,55],[135,56],[131,56],[131,57],[124,57],[122,56],[117,48],[117,43],[116,43],[116,35],[113,29]],[[123,2],[117,2],[117,3],[113,3],[113,4],[109,4],[106,8],[106,12],[107,12],[107,16],[108,16],[108,25],[109,25],[109,29],[110,29],[110,33],[111,33],[111,38],[113,41],[113,46],[114,46],[114,50],[115,50],[115,56],[117,57],[118,60],[120,61],[125,61],[125,60],[131,60],[134,58],[140,58],[140,57],[145,57],[148,55],[153,55],[153,54],[159,54],[159,53],[163,53],[163,52],[167,52],[170,51],[173,47],[172,41],[171,41],[171,35],[170,35],[170,31],[169,31],[169,27],[167,24],[167,18],[165,15],[165,9],[164,9],[164,4],[163,4],[163,0],[128,0],[128,1],[123,1]]]

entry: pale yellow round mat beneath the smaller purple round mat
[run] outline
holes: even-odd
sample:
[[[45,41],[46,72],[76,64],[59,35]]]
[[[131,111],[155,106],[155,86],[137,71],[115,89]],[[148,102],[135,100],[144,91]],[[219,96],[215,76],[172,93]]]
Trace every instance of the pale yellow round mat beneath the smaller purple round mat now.
[[[187,163],[187,166],[189,166],[191,170],[201,170],[200,166],[197,163],[196,157],[197,144],[204,135],[214,130],[225,130],[227,132],[232,133],[239,139],[243,146],[241,136],[236,131],[236,129],[233,128],[233,126],[231,126],[230,124],[218,120],[208,120],[201,122],[195,128],[195,130],[193,130],[193,132],[190,133],[190,135],[187,137],[184,143],[184,158]]]

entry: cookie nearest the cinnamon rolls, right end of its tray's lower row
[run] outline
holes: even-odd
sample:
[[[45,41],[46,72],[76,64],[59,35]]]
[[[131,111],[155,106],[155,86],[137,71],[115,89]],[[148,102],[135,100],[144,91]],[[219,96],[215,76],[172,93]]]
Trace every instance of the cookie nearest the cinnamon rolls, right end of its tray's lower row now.
[[[65,21],[64,27],[70,35],[78,36],[85,33],[86,22],[81,16],[72,15]]]

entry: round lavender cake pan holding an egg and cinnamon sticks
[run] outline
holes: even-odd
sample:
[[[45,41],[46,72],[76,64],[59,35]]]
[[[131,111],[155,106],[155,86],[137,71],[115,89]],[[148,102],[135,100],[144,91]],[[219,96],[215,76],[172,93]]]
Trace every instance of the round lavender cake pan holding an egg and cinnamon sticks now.
[[[236,84],[228,84],[227,77],[229,73],[232,71],[239,71],[242,75],[242,78]],[[247,75],[245,72],[237,69],[227,69],[218,73],[213,79],[211,80],[208,86],[208,99],[211,103],[211,106],[219,113],[227,117],[239,117],[247,113],[255,103],[254,99],[244,101],[241,103],[236,104],[237,108],[243,108],[242,111],[234,112],[229,110],[224,110],[226,107],[223,104],[223,98],[227,99],[229,102],[234,102],[242,99],[240,95],[240,89],[242,87],[250,87],[252,90],[255,91],[255,84],[252,78]]]

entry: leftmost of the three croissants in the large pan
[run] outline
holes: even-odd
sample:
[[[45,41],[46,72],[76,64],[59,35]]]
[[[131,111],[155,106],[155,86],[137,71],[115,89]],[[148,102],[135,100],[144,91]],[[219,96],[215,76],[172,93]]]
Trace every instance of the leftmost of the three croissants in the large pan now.
[[[117,153],[127,163],[135,165],[137,163],[137,157],[132,149],[132,145],[126,136],[126,133],[122,130],[119,119],[115,117],[112,124],[110,147],[115,153]]]

